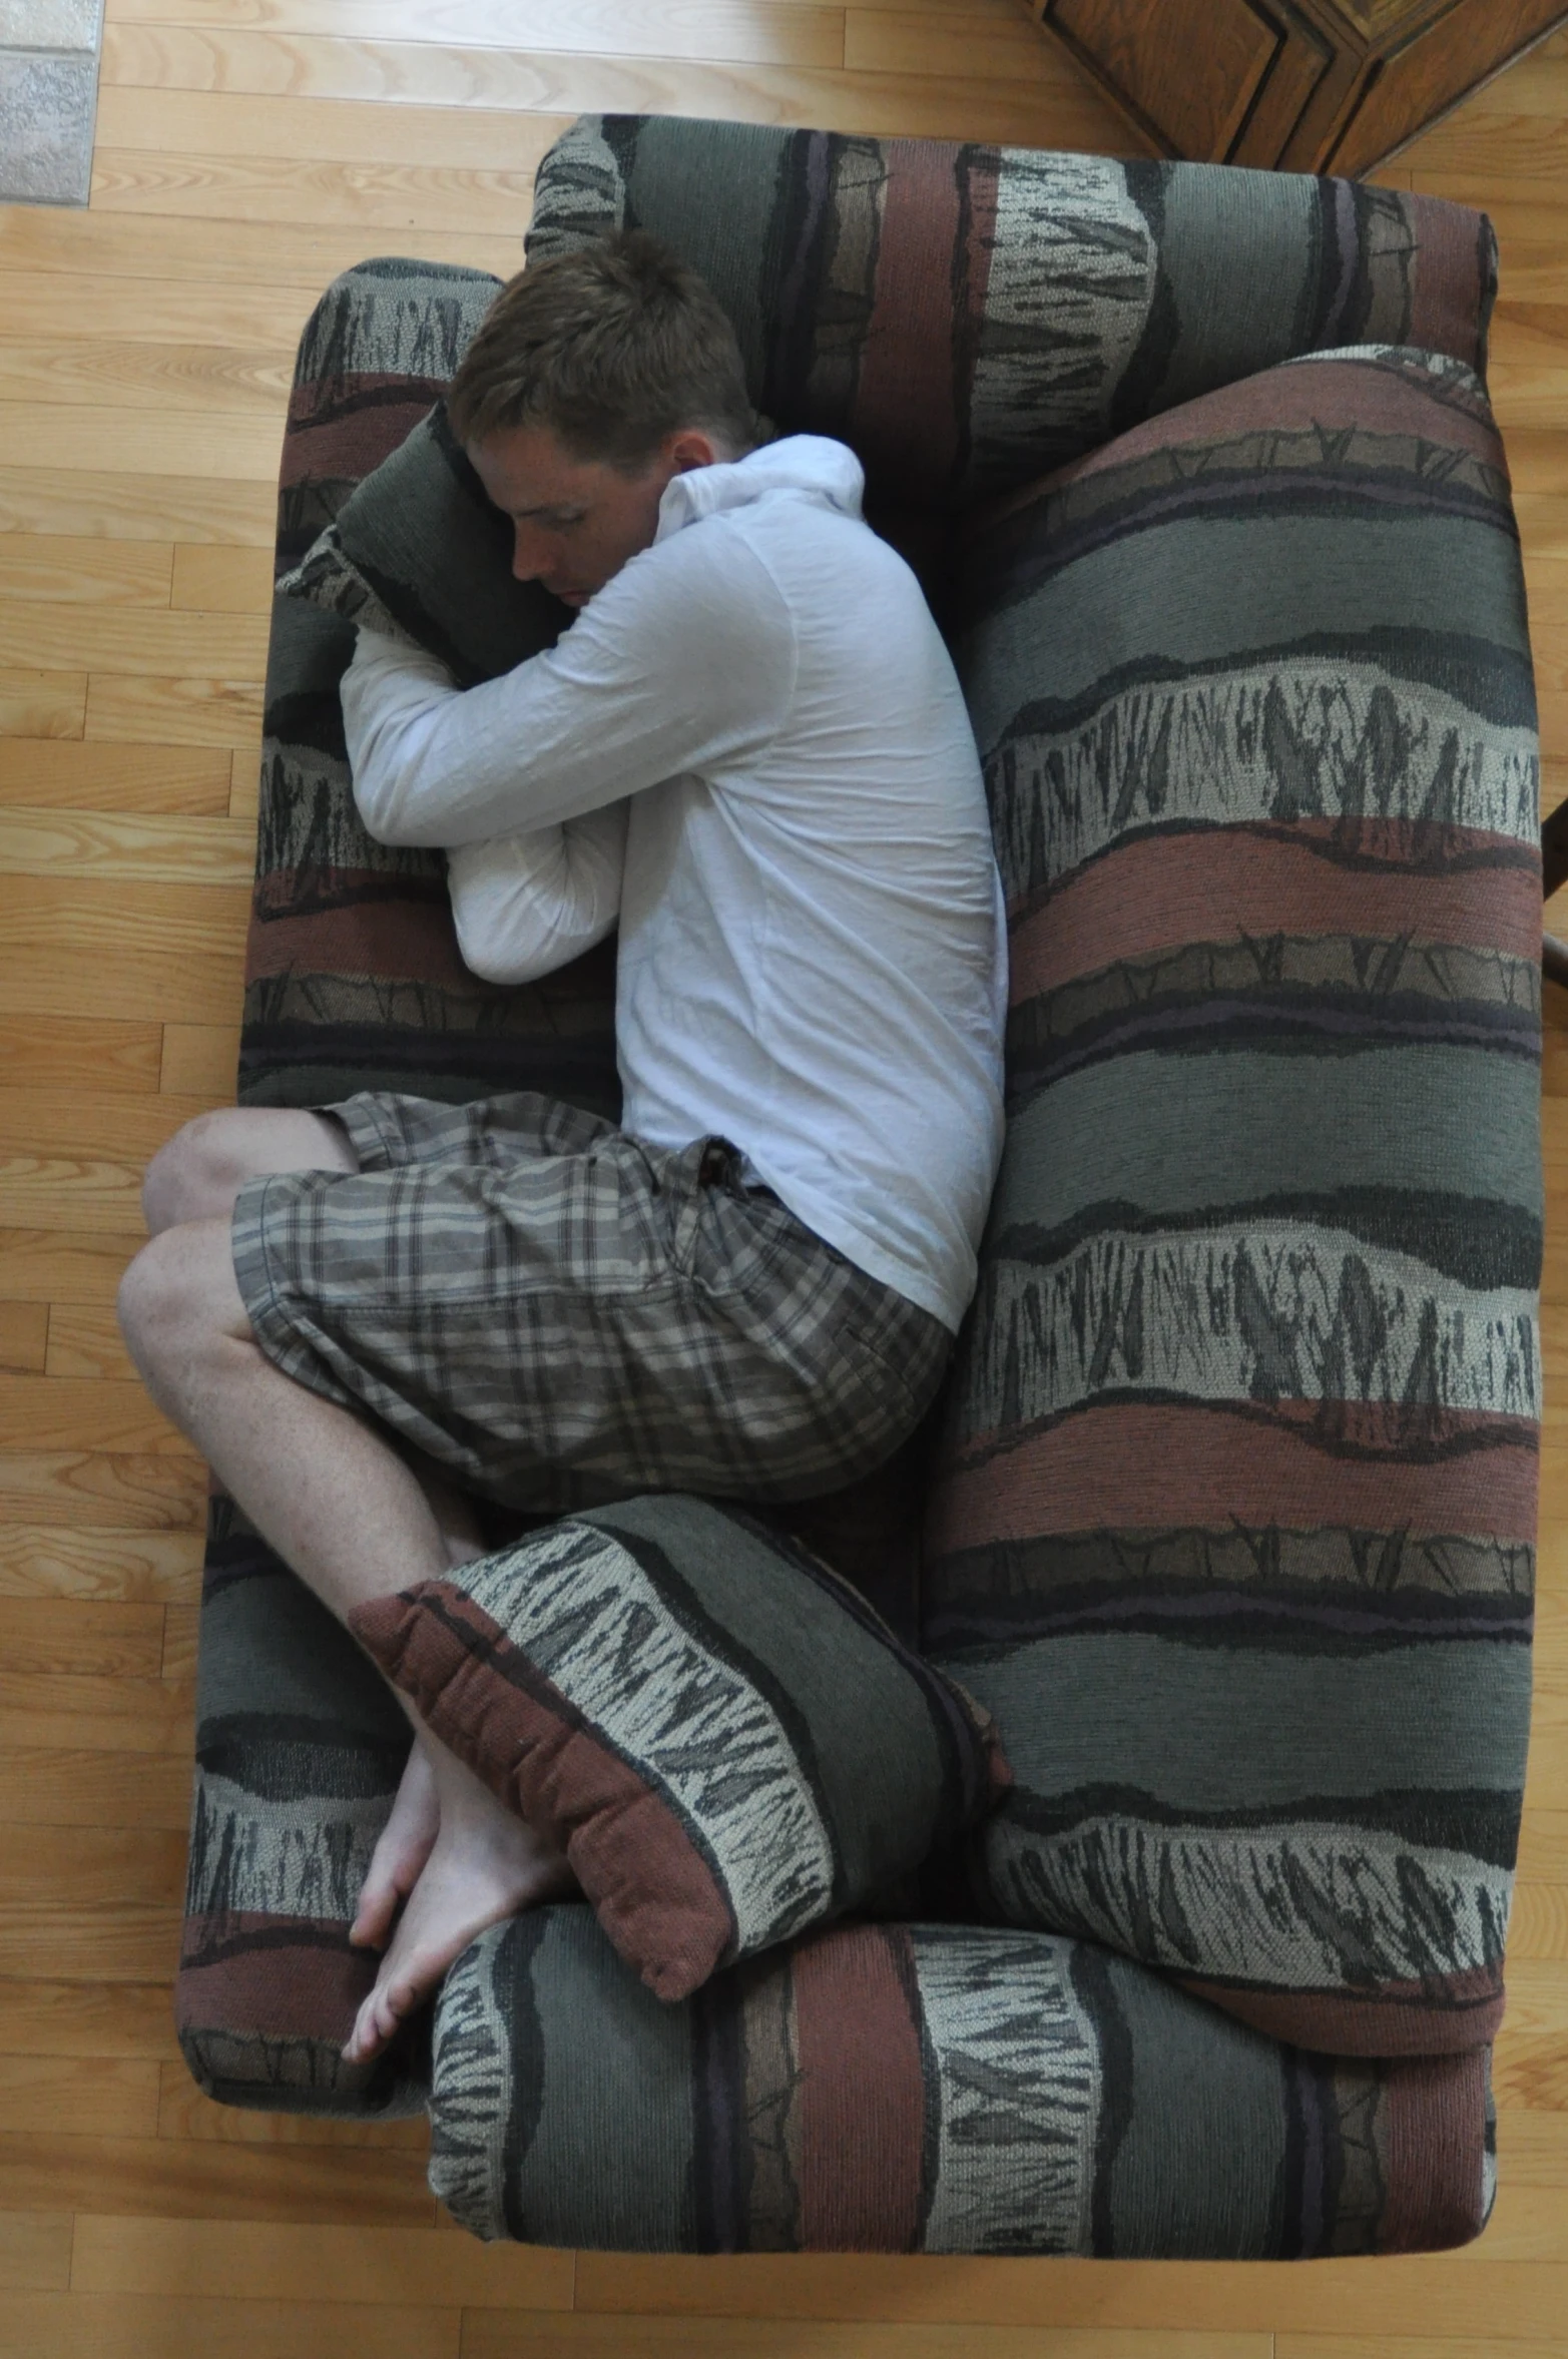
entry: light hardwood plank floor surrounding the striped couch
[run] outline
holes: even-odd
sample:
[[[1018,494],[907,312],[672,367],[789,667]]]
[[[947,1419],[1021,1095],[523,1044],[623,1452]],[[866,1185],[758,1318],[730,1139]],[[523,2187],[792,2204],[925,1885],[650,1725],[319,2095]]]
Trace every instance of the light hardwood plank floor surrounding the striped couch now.
[[[1502,2194],[1299,2267],[481,2248],[420,2123],[233,2114],[170,2024],[203,1470],[120,1349],[137,1180],[231,1099],[295,335],[512,271],[578,109],[1127,151],[1014,0],[108,0],[92,205],[0,210],[0,2359],[1502,2359],[1568,2350],[1568,995]],[[1493,389],[1568,795],[1568,40],[1386,175],[1502,234]],[[1568,894],[1563,896],[1568,901]],[[1556,913],[1568,934],[1568,908]]]

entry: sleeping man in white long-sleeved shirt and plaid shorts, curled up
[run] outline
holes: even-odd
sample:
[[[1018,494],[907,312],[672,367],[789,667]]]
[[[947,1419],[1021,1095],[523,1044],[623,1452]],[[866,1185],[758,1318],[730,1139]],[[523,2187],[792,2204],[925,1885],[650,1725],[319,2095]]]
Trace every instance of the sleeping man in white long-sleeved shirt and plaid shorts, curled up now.
[[[879,1465],[1002,1132],[974,738],[854,455],[757,446],[729,321],[644,236],[512,281],[448,408],[514,571],[578,618],[467,691],[361,632],[354,793],[382,842],[448,847],[481,974],[620,927],[625,1128],[535,1095],[203,1116],[120,1290],[153,1399],[340,1618],[481,1552],[462,1493],[790,1500]],[[415,1720],[344,2055],[564,1882]]]

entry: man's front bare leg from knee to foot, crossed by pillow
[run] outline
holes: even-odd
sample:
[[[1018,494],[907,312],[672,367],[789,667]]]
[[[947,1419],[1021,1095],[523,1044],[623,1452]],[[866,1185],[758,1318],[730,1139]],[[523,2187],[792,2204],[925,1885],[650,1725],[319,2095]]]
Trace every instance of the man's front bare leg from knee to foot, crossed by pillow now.
[[[278,1168],[297,1170],[302,1161]],[[153,1238],[120,1286],[120,1323],[158,1406],[340,1621],[450,1566],[450,1543],[403,1458],[365,1420],[281,1375],[257,1347],[233,1279],[226,1215],[184,1220]],[[476,1932],[568,1882],[564,1859],[502,1809],[413,1710],[408,1717],[436,1788],[439,1831],[344,2045],[351,2062],[387,2043]],[[427,1805],[417,1779],[406,1828]]]

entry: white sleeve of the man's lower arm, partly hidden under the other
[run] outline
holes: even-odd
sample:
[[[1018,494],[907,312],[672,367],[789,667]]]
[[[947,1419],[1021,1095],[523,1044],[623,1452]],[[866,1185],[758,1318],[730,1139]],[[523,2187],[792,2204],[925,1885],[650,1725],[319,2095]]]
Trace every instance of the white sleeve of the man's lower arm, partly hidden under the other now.
[[[488,984],[531,984],[580,958],[620,915],[627,807],[528,828],[448,854],[465,965]]]

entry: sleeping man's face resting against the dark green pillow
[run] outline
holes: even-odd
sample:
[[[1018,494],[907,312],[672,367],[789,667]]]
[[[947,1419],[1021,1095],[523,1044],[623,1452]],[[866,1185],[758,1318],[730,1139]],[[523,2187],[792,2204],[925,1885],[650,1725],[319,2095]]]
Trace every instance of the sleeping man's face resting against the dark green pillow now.
[[[665,436],[648,467],[622,474],[604,460],[573,458],[549,427],[507,427],[469,443],[479,481],[512,517],[512,571],[566,606],[587,606],[630,557],[653,547],[665,486],[717,455],[705,434],[679,432]]]

